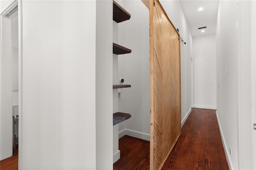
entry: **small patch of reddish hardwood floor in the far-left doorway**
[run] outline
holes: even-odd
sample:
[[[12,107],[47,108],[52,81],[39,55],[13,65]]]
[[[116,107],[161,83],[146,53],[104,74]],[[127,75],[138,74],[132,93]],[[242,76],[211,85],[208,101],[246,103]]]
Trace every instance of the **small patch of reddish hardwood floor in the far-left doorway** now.
[[[10,158],[0,161],[0,170],[18,170],[18,147]]]

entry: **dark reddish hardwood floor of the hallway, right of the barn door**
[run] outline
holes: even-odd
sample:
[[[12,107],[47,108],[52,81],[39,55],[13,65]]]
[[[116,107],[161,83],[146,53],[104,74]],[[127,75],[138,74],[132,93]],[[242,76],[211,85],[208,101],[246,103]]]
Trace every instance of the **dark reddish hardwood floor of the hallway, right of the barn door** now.
[[[162,170],[228,170],[216,111],[192,108]]]

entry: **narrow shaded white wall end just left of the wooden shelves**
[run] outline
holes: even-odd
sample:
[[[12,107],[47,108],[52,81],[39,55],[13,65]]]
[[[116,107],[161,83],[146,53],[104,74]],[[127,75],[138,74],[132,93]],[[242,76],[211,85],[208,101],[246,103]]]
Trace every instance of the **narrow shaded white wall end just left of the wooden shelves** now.
[[[113,168],[112,8],[96,1],[96,169]]]

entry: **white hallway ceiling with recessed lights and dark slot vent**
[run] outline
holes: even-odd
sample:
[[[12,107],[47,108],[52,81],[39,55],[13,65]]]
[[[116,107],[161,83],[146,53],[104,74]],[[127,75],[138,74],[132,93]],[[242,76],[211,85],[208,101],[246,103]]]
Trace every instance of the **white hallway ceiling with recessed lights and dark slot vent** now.
[[[215,34],[219,0],[180,0],[192,37]],[[198,8],[203,7],[202,11]],[[201,32],[200,27],[205,28]]]

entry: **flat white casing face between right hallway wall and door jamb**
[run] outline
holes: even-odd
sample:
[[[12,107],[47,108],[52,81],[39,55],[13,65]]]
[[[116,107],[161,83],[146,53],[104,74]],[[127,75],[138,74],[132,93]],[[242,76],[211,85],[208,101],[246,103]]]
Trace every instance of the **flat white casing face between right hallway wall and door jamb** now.
[[[238,169],[252,169],[250,122],[250,1],[238,1]]]

